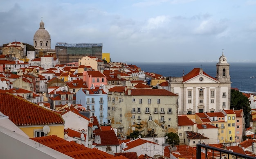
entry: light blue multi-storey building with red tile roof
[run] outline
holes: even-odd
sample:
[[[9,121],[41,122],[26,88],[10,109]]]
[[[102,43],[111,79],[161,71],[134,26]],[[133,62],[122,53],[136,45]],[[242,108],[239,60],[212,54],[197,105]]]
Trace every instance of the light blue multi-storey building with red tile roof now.
[[[108,123],[108,94],[103,89],[80,89],[76,92],[76,104],[90,110],[91,116],[96,116],[99,124]]]

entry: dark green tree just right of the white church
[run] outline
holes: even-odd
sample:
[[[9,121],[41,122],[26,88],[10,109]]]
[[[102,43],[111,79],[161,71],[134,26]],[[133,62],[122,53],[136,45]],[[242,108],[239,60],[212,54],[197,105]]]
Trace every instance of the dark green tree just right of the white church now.
[[[249,105],[248,98],[242,94],[240,91],[236,91],[235,89],[231,89],[231,97],[230,97],[230,109],[240,110],[243,109],[245,116],[245,127],[248,128],[250,125],[250,111],[251,107]]]

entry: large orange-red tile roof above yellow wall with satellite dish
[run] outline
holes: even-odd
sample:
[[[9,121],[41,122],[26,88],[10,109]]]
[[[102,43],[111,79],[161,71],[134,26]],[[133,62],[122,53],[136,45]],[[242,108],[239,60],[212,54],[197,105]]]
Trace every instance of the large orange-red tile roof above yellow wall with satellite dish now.
[[[17,126],[64,124],[61,115],[12,94],[0,94],[0,111]]]

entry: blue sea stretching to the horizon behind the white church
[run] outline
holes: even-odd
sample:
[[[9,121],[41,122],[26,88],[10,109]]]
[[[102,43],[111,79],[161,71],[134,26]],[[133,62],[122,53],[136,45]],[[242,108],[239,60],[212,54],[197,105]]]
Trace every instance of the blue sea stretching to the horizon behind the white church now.
[[[155,72],[162,76],[181,77],[189,73],[193,68],[202,68],[203,71],[213,78],[216,76],[215,62],[187,62],[187,63],[127,63],[137,65],[144,72]],[[231,87],[238,88],[242,92],[256,92],[256,62],[229,62]]]

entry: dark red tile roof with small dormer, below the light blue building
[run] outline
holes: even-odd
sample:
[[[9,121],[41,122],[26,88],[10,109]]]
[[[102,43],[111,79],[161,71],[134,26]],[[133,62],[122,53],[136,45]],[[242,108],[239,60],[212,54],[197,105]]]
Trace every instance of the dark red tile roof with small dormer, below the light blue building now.
[[[114,130],[95,131],[95,138],[97,135],[101,137],[101,143],[96,143],[97,146],[119,145],[119,141]]]

